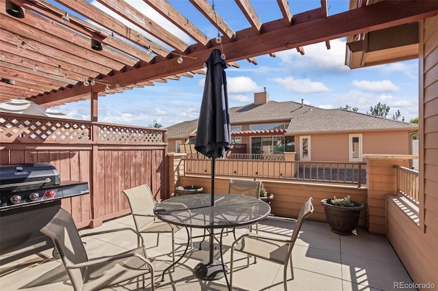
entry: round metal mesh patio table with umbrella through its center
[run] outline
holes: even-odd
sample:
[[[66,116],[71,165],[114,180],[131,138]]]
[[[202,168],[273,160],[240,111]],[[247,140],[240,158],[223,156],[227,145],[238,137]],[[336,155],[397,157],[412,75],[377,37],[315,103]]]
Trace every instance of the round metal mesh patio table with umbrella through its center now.
[[[269,204],[260,199],[232,194],[215,194],[214,206],[211,206],[211,195],[208,193],[170,198],[160,202],[154,208],[155,216],[162,221],[186,228],[195,227],[209,230],[210,258],[200,262],[194,269],[196,276],[205,280],[220,279],[227,273],[223,260],[213,259],[214,229],[221,229],[223,232],[223,229],[227,227],[250,225],[268,217],[270,211]],[[185,251],[187,251],[188,245]],[[222,258],[222,235],[219,245]],[[170,267],[168,268],[170,269]]]

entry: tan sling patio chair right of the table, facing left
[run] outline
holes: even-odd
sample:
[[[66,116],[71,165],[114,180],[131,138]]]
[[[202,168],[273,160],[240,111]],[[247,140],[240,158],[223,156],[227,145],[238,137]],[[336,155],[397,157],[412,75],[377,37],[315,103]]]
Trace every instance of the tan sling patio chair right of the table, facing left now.
[[[292,249],[295,245],[296,238],[300,232],[302,222],[313,213],[312,197],[309,197],[302,203],[300,214],[295,222],[294,232],[290,239],[272,238],[248,232],[237,238],[231,245],[231,266],[230,266],[230,286],[233,287],[233,257],[234,251],[253,255],[256,258],[283,264],[283,283],[287,290],[287,265],[290,263],[292,279],[294,279],[294,266],[292,265]],[[247,260],[249,266],[249,257]]]

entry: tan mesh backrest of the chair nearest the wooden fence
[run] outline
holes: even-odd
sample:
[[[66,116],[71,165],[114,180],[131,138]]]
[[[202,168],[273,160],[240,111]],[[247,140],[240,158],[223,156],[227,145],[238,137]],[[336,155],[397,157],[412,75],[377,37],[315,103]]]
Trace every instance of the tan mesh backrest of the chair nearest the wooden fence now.
[[[143,184],[131,189],[123,190],[128,198],[129,206],[136,223],[137,231],[144,229],[147,225],[153,223],[155,220],[153,214],[153,207],[155,202],[153,201],[153,195],[151,188],[148,185]]]

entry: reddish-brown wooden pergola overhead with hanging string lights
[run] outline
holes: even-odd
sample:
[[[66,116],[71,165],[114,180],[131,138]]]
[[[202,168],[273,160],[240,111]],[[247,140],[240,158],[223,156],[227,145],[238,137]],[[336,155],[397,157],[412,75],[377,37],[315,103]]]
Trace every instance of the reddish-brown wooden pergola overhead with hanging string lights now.
[[[250,0],[235,0],[248,28],[234,31],[209,1],[188,1],[186,5],[193,5],[218,28],[221,46],[216,36],[206,36],[167,1],[144,0],[194,43],[183,42],[125,1],[97,1],[138,30],[86,0],[56,0],[55,5],[44,0],[0,0],[0,100],[26,98],[45,107],[62,105],[204,73],[203,62],[214,48],[226,52],[230,66],[242,59],[257,64],[254,57],[259,55],[290,48],[304,54],[306,45],[317,42],[325,42],[329,49],[333,39],[348,37],[353,42],[371,31],[438,14],[438,1],[351,0],[350,10],[328,16],[327,0],[321,0],[320,8],[293,15],[293,1],[277,0],[266,5],[278,5],[283,18],[261,23]],[[8,14],[5,7],[10,5],[23,9],[24,17]],[[171,49],[149,40],[142,31]],[[92,49],[92,41],[101,44],[101,51]]]

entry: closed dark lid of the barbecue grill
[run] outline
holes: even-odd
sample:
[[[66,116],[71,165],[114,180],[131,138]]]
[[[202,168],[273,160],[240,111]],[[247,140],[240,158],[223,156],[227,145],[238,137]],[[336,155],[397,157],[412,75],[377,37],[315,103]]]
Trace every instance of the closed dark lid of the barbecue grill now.
[[[22,191],[60,184],[60,174],[50,163],[0,165],[1,191]]]

